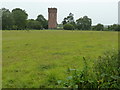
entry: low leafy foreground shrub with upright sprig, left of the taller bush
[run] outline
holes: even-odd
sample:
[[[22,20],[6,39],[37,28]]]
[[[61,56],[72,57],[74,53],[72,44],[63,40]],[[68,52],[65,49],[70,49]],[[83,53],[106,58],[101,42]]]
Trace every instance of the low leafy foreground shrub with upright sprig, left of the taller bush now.
[[[70,76],[62,81],[63,87],[67,88],[97,88],[97,81],[92,79],[89,74],[90,67],[88,67],[87,60],[83,57],[84,67],[82,70],[69,69]],[[61,85],[61,84],[60,84]]]

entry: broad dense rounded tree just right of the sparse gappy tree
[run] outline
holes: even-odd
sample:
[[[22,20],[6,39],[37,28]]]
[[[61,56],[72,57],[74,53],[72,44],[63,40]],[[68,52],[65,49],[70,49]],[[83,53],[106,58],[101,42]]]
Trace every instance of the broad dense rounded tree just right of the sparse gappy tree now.
[[[77,24],[77,29],[79,30],[90,30],[92,20],[87,16],[84,16],[83,18],[77,19],[76,24]]]

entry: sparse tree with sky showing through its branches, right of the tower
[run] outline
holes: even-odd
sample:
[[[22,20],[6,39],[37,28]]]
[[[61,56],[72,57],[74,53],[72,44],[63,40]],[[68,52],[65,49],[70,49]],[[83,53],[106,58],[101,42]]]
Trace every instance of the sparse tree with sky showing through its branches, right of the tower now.
[[[72,24],[75,27],[74,14],[70,13],[67,17],[65,17],[62,24]]]

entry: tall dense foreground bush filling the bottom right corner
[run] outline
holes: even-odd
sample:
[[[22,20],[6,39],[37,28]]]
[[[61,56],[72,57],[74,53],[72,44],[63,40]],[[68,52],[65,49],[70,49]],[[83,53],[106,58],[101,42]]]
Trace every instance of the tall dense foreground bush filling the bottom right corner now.
[[[100,88],[120,89],[120,51],[107,51],[94,63],[98,85]]]

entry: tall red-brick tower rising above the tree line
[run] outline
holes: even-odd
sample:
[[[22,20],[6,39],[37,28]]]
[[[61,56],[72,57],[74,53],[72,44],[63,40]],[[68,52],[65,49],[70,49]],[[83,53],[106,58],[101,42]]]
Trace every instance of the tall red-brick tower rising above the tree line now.
[[[48,8],[48,28],[57,28],[57,8]]]

